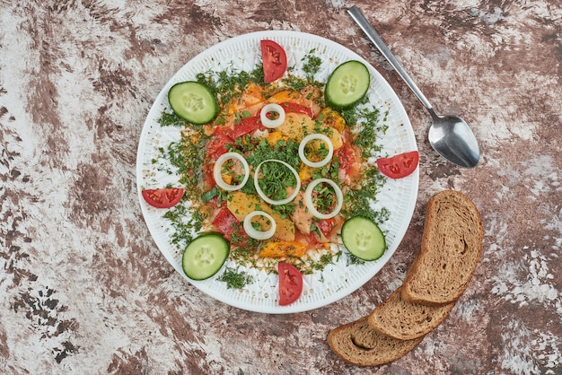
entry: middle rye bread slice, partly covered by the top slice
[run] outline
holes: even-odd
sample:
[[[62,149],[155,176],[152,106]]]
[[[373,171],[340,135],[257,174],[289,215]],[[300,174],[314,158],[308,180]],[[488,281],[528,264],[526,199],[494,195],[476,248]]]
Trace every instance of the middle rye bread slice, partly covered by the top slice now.
[[[426,306],[402,300],[400,289],[378,305],[369,316],[369,326],[386,336],[400,340],[413,340],[426,336],[439,326],[455,302],[441,306]]]

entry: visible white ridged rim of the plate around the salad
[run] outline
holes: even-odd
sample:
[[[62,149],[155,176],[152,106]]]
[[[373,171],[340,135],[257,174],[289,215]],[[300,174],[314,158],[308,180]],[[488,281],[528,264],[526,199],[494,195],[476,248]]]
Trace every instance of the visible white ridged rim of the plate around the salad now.
[[[321,71],[315,75],[315,78],[321,82],[326,82],[329,74],[339,64],[352,59],[362,61],[368,66],[371,73],[372,81],[368,92],[370,103],[382,109],[382,112],[385,109],[389,110],[386,120],[389,128],[379,143],[382,145],[382,155],[417,150],[417,144],[406,111],[382,75],[353,51],[329,39],[311,34],[295,31],[259,31],[225,40],[194,57],[188,64],[181,67],[163,87],[146,118],[136,159],[138,197],[145,222],[158,249],[182,277],[201,292],[205,292],[218,301],[243,310],[293,313],[317,309],[338,301],[356,291],[381,270],[397,249],[408,229],[416,205],[419,172],[416,170],[404,179],[388,179],[377,196],[377,202],[374,205],[384,206],[391,212],[390,219],[381,226],[382,231],[386,234],[388,245],[384,255],[376,261],[352,266],[347,266],[347,257],[339,257],[338,263],[327,266],[322,272],[304,275],[303,294],[291,305],[278,305],[277,275],[267,275],[266,272],[256,269],[247,270],[253,276],[254,283],[243,290],[227,289],[226,283],[217,281],[216,277],[222,274],[222,270],[205,281],[189,280],[181,269],[183,249],[176,249],[171,244],[170,233],[173,229],[169,222],[162,218],[162,214],[166,210],[158,210],[146,205],[141,196],[141,188],[158,188],[167,184],[178,186],[178,176],[159,171],[154,166],[153,160],[158,157],[160,147],[167,147],[171,142],[180,139],[180,130],[171,128],[171,126],[162,128],[158,124],[158,118],[160,118],[162,110],[169,108],[167,93],[174,83],[194,80],[199,73],[211,70],[223,71],[231,66],[236,70],[247,72],[253,70],[256,65],[261,63],[259,48],[261,39],[272,39],[283,46],[288,65],[295,67],[293,74],[300,73],[299,75],[303,76],[302,58],[315,49],[314,55],[321,57],[323,62]],[[228,261],[226,264],[229,264]]]

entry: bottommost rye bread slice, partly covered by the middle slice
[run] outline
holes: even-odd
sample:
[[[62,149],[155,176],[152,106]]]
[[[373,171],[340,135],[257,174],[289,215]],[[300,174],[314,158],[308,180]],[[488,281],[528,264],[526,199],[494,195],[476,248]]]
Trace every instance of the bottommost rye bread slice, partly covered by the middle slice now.
[[[368,316],[332,329],[328,344],[332,352],[355,366],[379,366],[398,360],[423,340],[399,340],[382,335],[369,326]]]

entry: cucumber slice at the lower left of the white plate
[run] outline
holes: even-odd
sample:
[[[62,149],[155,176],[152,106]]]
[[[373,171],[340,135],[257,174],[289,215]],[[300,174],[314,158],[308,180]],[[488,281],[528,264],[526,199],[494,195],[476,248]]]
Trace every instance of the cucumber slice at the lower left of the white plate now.
[[[189,242],[183,251],[183,272],[193,280],[208,279],[221,269],[229,253],[230,244],[223,236],[216,233],[203,234]]]

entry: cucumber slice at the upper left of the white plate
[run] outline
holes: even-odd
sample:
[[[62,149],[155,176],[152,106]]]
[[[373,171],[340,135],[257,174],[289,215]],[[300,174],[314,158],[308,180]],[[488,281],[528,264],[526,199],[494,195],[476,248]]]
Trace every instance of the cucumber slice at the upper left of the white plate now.
[[[191,124],[206,124],[218,113],[215,93],[205,84],[195,81],[176,83],[168,92],[171,109]]]

